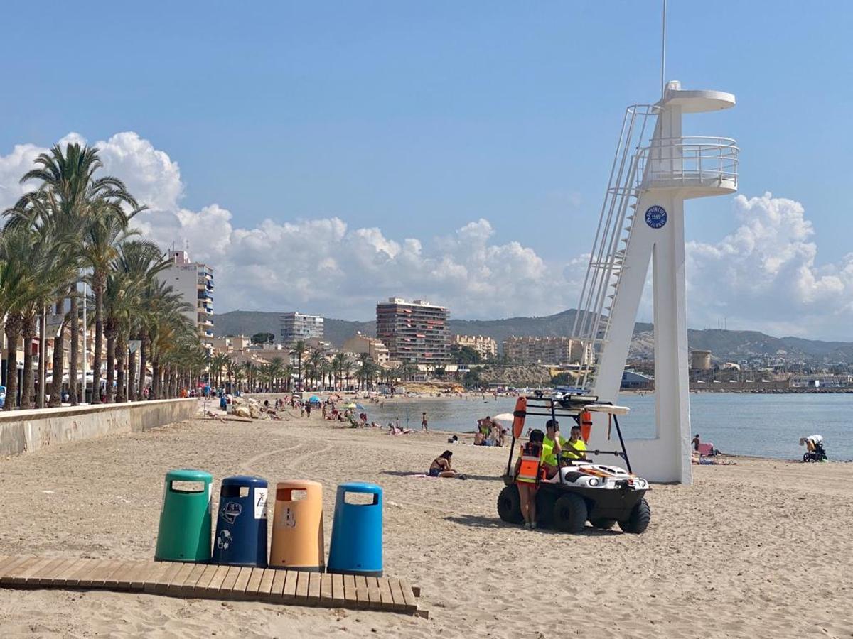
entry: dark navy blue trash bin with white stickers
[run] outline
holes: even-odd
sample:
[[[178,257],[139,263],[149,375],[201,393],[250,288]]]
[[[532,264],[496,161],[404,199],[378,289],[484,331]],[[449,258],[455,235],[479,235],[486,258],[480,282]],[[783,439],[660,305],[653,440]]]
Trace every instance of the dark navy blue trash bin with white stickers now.
[[[212,563],[265,568],[266,532],[266,480],[246,475],[223,479]]]

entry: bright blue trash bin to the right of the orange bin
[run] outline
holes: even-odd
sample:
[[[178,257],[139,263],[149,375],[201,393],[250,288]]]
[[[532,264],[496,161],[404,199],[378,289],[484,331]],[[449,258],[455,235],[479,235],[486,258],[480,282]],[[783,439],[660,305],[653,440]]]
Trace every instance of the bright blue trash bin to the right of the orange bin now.
[[[367,503],[349,504],[347,493],[367,493]],[[329,573],[382,576],[382,489],[357,481],[340,484],[334,501]]]

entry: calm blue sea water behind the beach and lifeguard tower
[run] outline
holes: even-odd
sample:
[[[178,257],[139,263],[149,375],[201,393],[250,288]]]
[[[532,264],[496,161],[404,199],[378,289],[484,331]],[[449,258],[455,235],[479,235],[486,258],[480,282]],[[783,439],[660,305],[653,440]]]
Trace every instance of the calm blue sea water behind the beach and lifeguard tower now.
[[[626,439],[654,437],[653,394],[624,394],[618,403],[631,409],[619,419]],[[514,407],[514,398],[490,395],[485,400],[448,397],[365,405],[369,419],[383,426],[398,418],[401,426],[420,429],[421,413],[427,412],[430,429],[456,432],[472,432],[478,419],[513,412]],[[541,423],[528,425],[544,428],[544,418],[537,419]],[[692,393],[690,423],[691,437],[699,433],[721,452],[798,459],[805,451],[798,445],[800,437],[823,435],[830,459],[853,459],[853,394]]]

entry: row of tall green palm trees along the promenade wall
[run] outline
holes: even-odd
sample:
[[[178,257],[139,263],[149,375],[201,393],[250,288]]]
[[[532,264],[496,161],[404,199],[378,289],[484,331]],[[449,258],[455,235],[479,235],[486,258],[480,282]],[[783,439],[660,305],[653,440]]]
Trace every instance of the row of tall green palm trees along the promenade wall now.
[[[8,314],[4,330],[9,345],[5,410],[32,406],[36,377],[32,343],[43,308],[61,318],[52,366],[57,374],[46,389],[49,406],[61,402],[67,329],[71,337],[69,381],[78,380],[80,282],[90,285],[87,303],[94,309],[90,320],[95,327],[95,371],[102,368],[102,346],[107,340],[107,403],[142,396],[144,374],[139,380],[125,380],[125,361],[129,361],[131,376],[136,371],[136,353],[128,348],[130,339],[142,341],[142,371],[151,361],[152,398],[176,396],[179,387],[189,386],[206,366],[195,327],[183,314],[190,308],[180,302],[171,286],[157,283],[156,274],[168,266],[166,256],[153,243],[136,238],[136,231],[130,228],[131,219],[145,207],[122,181],[99,176],[101,169],[96,148],[56,145],[39,155],[35,167],[20,180],[35,189],[3,211],[0,308]],[[20,403],[19,338],[25,353]],[[70,383],[68,390],[71,403],[77,404],[78,383]],[[96,389],[92,403],[100,402]]]

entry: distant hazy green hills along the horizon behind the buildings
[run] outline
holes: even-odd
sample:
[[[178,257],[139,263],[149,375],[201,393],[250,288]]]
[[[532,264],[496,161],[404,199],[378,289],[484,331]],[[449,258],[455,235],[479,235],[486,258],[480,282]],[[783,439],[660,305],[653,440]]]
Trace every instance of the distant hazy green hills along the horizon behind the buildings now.
[[[231,311],[214,317],[217,335],[252,335],[270,332],[279,335],[278,313],[257,311]],[[485,335],[492,337],[502,348],[503,340],[512,335],[535,337],[563,336],[572,334],[575,310],[569,309],[543,317],[512,317],[505,320],[450,320],[450,332],[455,335]],[[631,357],[651,357],[653,354],[653,326],[646,323],[635,325]],[[327,318],[326,339],[334,346],[341,346],[348,337],[362,331],[376,334],[374,321],[349,321]],[[787,360],[814,360],[853,363],[853,343],[821,342],[802,337],[772,337],[759,331],[688,331],[690,348],[710,350],[717,360],[741,360],[751,356],[780,355]],[[784,352],[784,355],[780,354]]]

